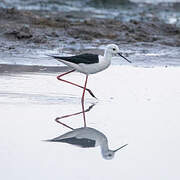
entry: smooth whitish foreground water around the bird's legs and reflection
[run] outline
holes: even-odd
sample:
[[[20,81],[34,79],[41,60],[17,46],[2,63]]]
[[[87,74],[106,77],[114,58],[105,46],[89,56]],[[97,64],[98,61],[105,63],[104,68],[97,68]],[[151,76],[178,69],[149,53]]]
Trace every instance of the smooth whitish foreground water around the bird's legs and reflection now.
[[[42,141],[68,131],[56,117],[81,110],[82,91],[56,75],[1,74],[1,179],[179,179],[179,68],[116,65],[90,76],[98,101],[86,94],[86,107],[96,103],[87,125],[103,132],[111,149],[128,143],[110,161],[99,148]],[[83,83],[84,76],[67,79]],[[83,126],[81,115],[64,122]]]

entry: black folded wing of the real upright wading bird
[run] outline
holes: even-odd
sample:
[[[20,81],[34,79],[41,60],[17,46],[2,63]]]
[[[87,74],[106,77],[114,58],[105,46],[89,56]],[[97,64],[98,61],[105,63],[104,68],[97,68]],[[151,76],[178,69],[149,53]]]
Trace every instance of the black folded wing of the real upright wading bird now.
[[[69,57],[61,57],[61,56],[55,56],[55,55],[50,55],[51,57],[57,59],[57,60],[64,60],[68,62],[72,62],[75,64],[94,64],[99,62],[98,55],[96,54],[80,54],[77,56],[69,56]]]

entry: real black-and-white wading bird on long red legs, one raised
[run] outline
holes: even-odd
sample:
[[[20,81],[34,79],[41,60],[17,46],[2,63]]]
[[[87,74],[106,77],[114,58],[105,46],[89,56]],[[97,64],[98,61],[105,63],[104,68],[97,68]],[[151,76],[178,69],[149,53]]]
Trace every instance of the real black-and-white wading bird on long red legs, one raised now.
[[[57,79],[83,89],[83,93],[81,97],[81,105],[82,105],[84,122],[86,121],[85,112],[84,112],[85,91],[88,91],[92,97],[96,98],[96,96],[92,93],[92,91],[86,88],[89,74],[95,74],[108,68],[111,64],[111,59],[113,56],[120,56],[129,63],[131,63],[130,60],[128,60],[126,57],[122,55],[119,47],[116,44],[107,45],[103,56],[97,54],[88,54],[88,53],[75,55],[75,56],[68,56],[68,57],[57,56],[57,55],[48,55],[48,56],[55,58],[56,60],[72,68],[72,70],[58,75]],[[84,86],[62,79],[63,76],[70,74],[74,71],[78,71],[86,75]]]

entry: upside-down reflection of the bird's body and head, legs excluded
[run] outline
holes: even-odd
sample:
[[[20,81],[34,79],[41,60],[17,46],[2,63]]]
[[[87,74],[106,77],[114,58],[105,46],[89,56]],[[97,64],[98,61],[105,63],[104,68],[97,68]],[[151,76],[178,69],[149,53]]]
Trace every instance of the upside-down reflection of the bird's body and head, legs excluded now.
[[[91,127],[81,127],[77,129],[71,128],[71,129],[72,129],[71,131],[61,136],[45,141],[68,143],[71,145],[79,146],[81,148],[92,148],[92,147],[100,146],[102,157],[106,160],[113,159],[115,153],[118,150],[128,145],[128,144],[124,144],[123,146],[117,148],[116,150],[110,150],[108,146],[107,137],[102,132]]]

